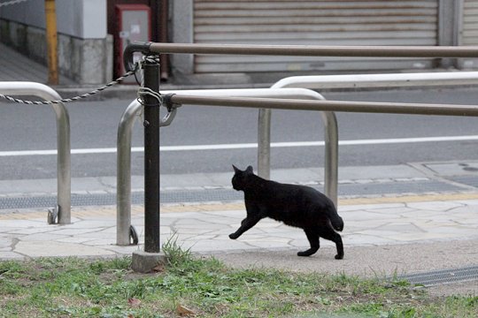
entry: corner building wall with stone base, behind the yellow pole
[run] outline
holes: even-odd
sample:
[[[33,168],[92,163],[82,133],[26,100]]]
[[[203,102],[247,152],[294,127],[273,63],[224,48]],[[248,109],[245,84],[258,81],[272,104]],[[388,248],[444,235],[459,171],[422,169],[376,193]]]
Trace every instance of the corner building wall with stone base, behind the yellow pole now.
[[[106,0],[56,1],[59,72],[81,84],[112,79],[112,38],[106,32]],[[0,10],[0,42],[46,64],[44,0]]]

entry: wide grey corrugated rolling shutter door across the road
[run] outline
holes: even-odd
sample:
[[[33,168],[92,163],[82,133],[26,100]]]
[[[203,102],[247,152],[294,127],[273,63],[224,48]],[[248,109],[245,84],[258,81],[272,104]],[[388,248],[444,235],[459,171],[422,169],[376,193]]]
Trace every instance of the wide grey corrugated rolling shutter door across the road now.
[[[436,45],[438,0],[194,1],[194,42],[307,45]],[[428,68],[432,59],[195,57],[195,72]]]

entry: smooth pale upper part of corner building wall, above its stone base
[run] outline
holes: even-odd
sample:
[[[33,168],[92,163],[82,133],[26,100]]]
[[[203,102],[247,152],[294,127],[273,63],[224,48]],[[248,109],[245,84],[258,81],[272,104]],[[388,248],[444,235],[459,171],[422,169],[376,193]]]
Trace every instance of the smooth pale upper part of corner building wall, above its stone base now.
[[[57,0],[58,33],[81,39],[106,37],[106,0]],[[0,18],[45,27],[44,0],[27,0],[0,7]]]

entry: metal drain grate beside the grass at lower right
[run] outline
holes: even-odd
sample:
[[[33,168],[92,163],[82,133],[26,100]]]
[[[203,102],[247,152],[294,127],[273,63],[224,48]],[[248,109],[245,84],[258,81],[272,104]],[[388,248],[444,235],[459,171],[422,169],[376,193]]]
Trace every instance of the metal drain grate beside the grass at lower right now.
[[[397,278],[406,280],[410,284],[419,284],[424,286],[478,280],[478,265],[458,269],[440,269],[423,273],[406,274],[397,276]]]

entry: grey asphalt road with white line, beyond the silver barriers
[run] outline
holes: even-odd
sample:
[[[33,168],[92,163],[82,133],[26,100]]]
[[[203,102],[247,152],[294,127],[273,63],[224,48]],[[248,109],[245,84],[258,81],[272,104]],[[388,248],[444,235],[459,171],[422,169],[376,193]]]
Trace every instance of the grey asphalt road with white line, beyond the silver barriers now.
[[[474,104],[478,89],[401,90],[324,94],[329,100],[384,102],[450,102]],[[68,104],[72,149],[116,148],[117,127],[130,100]],[[340,140],[397,139],[478,135],[478,118],[337,113]],[[173,125],[161,129],[161,146],[242,144],[257,142],[258,111],[185,105]],[[277,110],[273,142],[323,140],[319,113]],[[54,113],[49,106],[0,101],[0,179],[56,178],[55,155],[30,155],[56,148]],[[143,146],[141,122],[135,124],[133,146]],[[478,159],[478,140],[429,141],[341,146],[339,166]],[[22,155],[6,155],[7,151]],[[163,151],[161,173],[226,172],[230,164],[255,165],[255,148]],[[323,166],[323,147],[273,148],[272,167]],[[135,175],[143,174],[143,152],[133,154]],[[72,155],[72,177],[116,175],[116,154]]]

